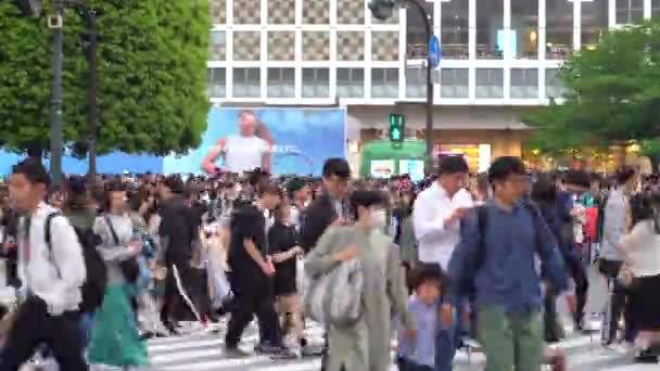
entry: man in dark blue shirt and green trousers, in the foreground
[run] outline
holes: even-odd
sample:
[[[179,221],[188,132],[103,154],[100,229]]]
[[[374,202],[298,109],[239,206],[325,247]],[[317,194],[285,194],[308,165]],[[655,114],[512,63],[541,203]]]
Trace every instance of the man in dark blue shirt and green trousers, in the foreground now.
[[[477,291],[486,370],[538,370],[544,343],[542,277],[560,292],[567,286],[566,268],[537,208],[523,200],[529,177],[520,158],[497,158],[488,181],[494,197],[465,220],[449,277],[454,290],[473,284]]]

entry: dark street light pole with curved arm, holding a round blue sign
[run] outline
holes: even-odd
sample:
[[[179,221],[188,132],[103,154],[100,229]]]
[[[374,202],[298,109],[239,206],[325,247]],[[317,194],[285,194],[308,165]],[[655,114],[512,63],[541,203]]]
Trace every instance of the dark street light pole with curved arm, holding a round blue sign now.
[[[427,125],[426,125],[426,142],[427,142],[427,161],[426,161],[426,172],[433,172],[433,66],[431,65],[431,53],[429,52],[429,44],[431,36],[433,36],[431,20],[429,20],[429,13],[424,8],[421,0],[371,0],[369,2],[369,9],[371,15],[378,20],[384,21],[392,16],[394,9],[397,9],[401,4],[410,4],[415,7],[424,23],[426,30],[426,49],[427,49]]]

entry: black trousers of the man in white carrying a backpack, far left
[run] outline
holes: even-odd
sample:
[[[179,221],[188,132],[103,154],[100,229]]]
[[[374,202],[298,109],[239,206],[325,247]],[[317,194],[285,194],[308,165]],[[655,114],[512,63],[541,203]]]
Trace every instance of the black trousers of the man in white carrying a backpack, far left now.
[[[88,370],[79,323],[79,312],[53,317],[42,299],[30,296],[16,312],[7,346],[0,353],[0,371],[18,370],[42,344],[52,351],[60,370]]]

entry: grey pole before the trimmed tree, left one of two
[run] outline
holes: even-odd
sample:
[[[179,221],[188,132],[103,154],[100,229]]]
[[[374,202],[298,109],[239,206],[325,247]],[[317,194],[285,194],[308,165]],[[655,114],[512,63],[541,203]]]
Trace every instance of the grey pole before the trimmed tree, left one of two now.
[[[64,2],[53,1],[53,15],[49,18],[49,27],[53,30],[53,97],[51,101],[50,121],[50,170],[53,184],[62,181],[62,17]]]

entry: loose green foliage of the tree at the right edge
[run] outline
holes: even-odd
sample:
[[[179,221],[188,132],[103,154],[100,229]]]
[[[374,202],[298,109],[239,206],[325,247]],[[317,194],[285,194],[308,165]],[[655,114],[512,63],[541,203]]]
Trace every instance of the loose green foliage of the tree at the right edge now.
[[[561,68],[562,104],[528,115],[554,150],[660,137],[660,23],[607,33]]]

